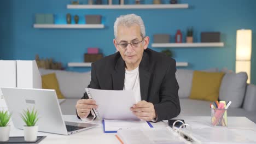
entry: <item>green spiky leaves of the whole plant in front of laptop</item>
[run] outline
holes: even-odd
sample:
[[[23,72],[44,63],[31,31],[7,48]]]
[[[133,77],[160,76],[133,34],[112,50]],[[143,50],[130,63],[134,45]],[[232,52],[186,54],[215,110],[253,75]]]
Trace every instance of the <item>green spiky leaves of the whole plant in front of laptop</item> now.
[[[23,121],[26,123],[27,127],[33,127],[34,125],[36,125],[39,119],[38,112],[34,110],[34,108],[32,110],[24,110],[23,113],[20,115]]]

